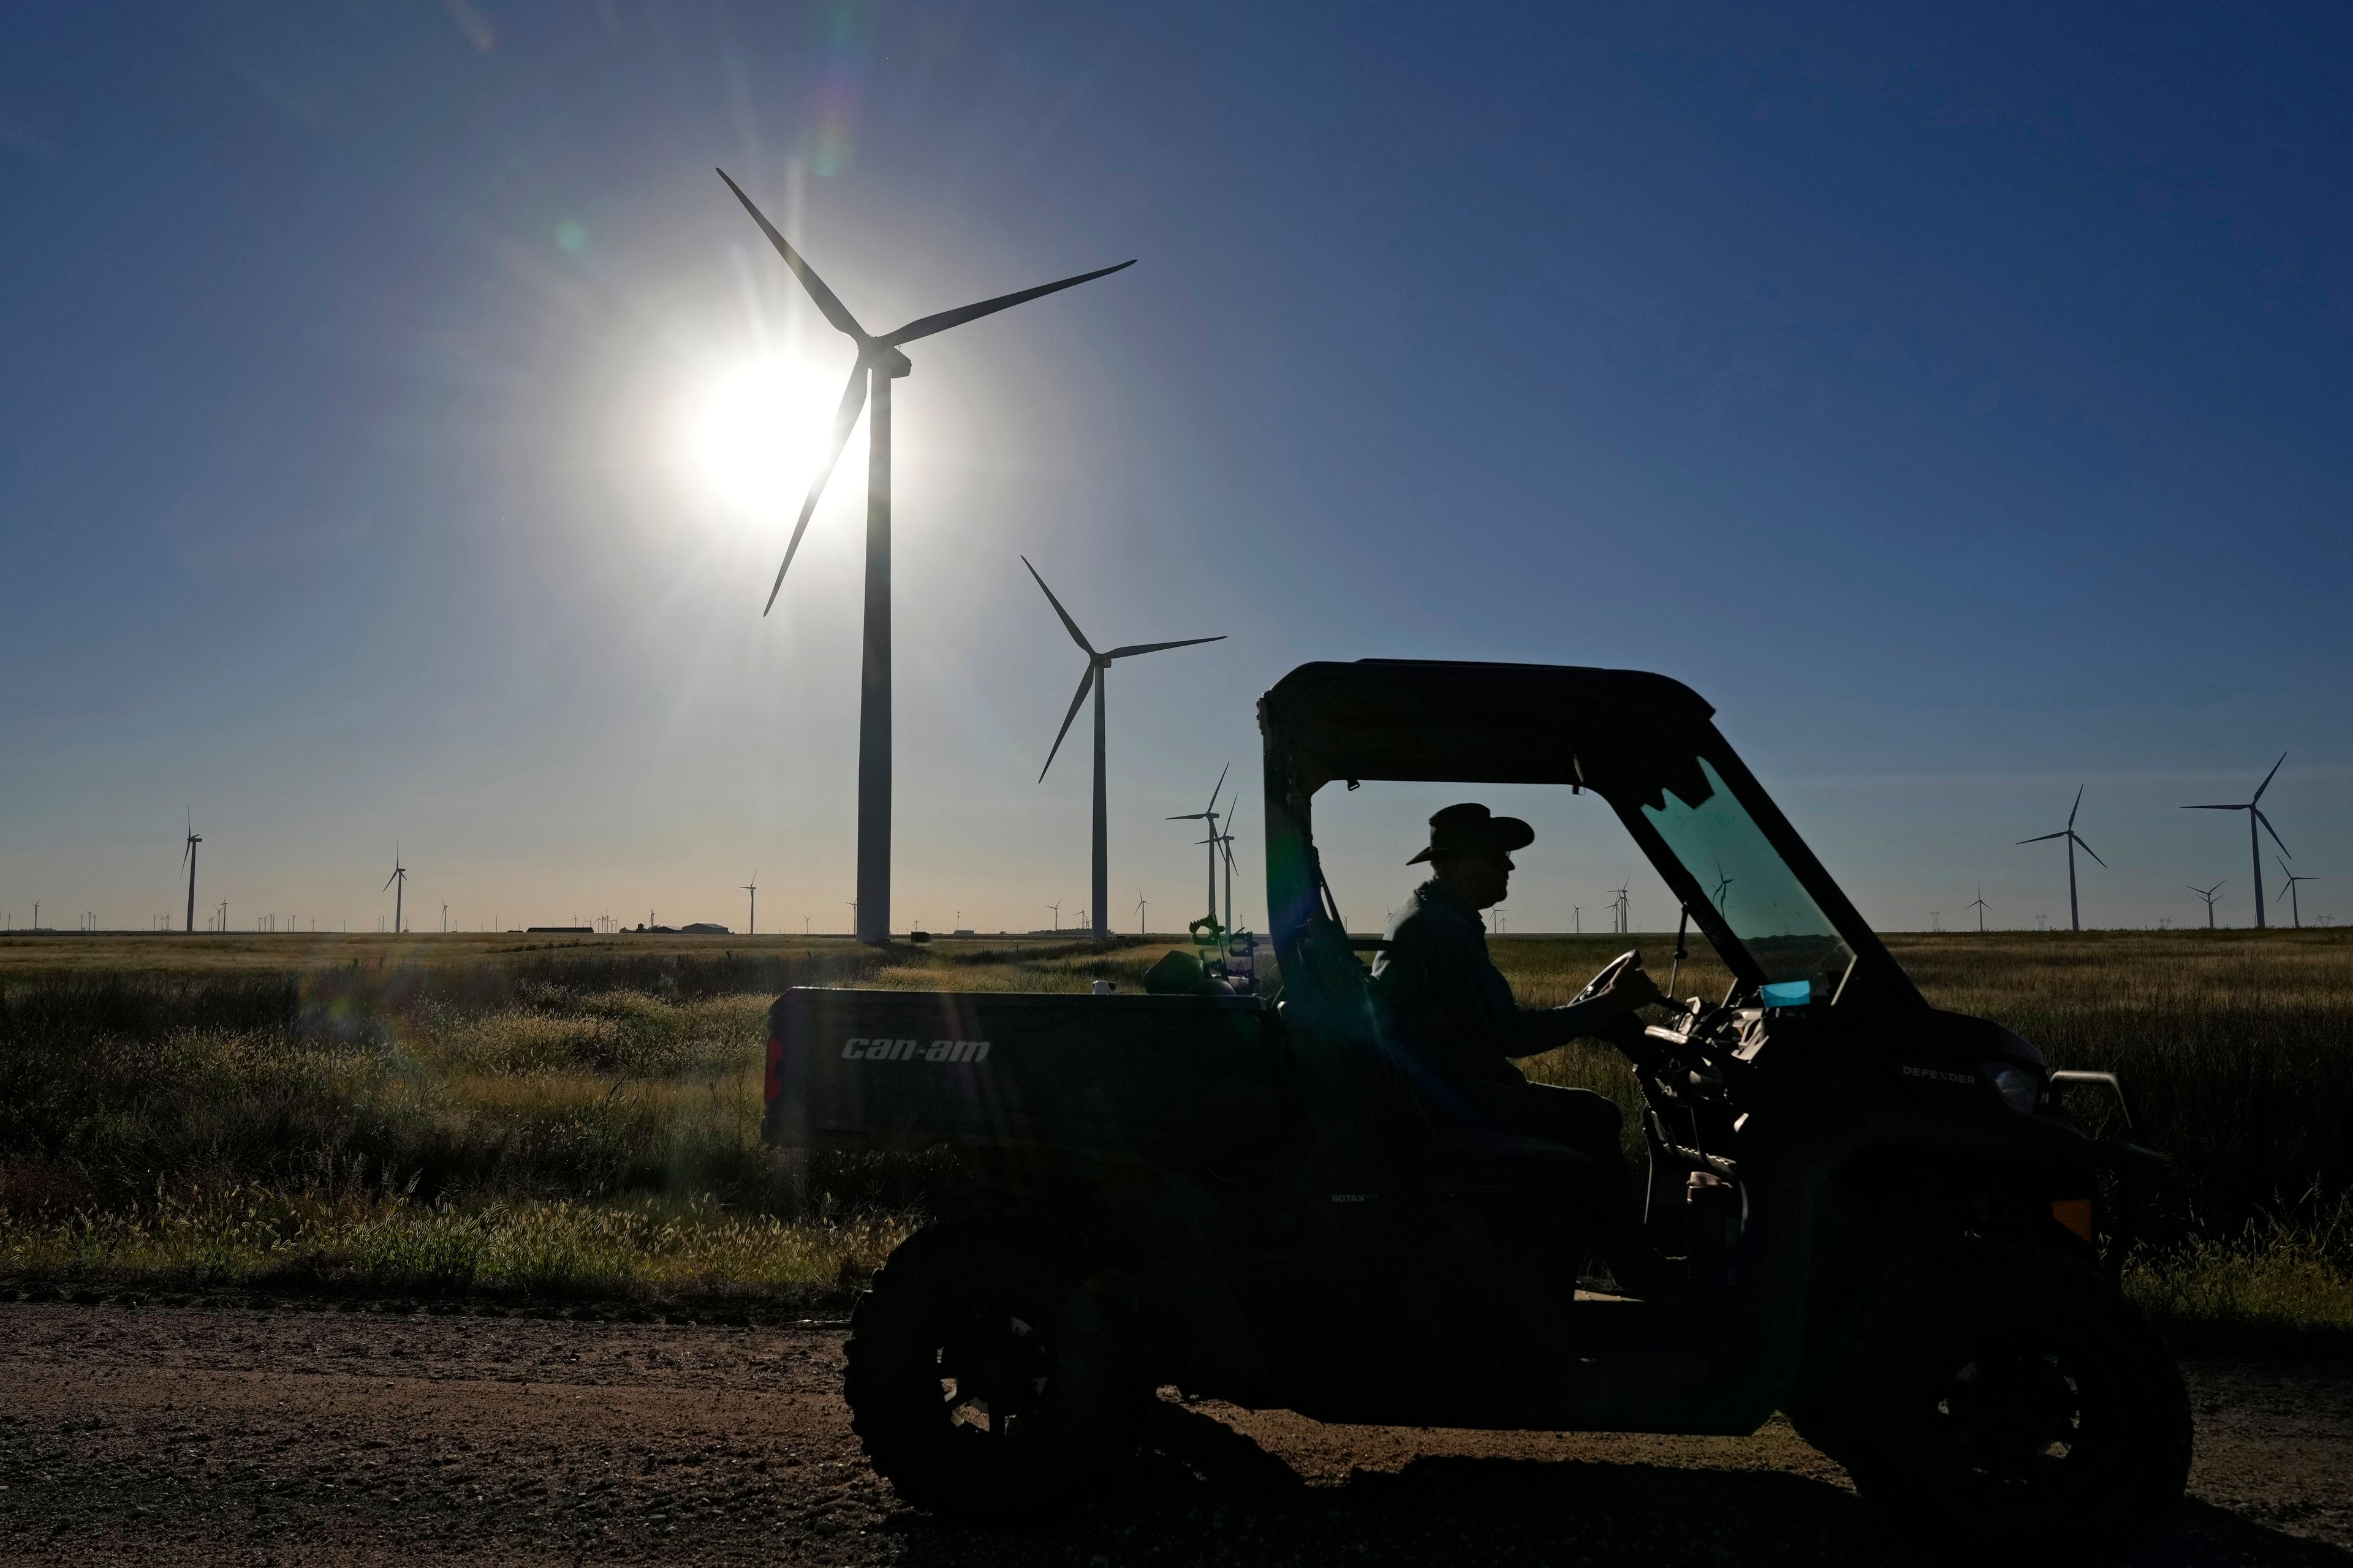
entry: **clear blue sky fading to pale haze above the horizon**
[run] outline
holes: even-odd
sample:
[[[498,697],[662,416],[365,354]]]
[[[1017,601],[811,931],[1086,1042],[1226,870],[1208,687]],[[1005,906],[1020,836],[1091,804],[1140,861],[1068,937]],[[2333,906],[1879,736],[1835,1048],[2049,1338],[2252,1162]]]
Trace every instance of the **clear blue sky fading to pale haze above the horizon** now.
[[[713,165],[875,329],[1136,256],[896,383],[899,926],[1087,898],[1021,552],[1228,635],[1111,675],[1129,929],[1228,759],[1259,919],[1254,701],[1360,656],[1689,682],[1885,926],[2064,922],[2078,785],[2087,924],[2245,924],[2177,806],[2285,750],[2353,919],[2346,7],[689,0],[7,9],[0,917],[176,912],[193,809],[235,926],[395,842],[419,929],[847,926],[864,430],[760,599],[852,355]],[[1351,924],[1445,797],[1334,809]]]

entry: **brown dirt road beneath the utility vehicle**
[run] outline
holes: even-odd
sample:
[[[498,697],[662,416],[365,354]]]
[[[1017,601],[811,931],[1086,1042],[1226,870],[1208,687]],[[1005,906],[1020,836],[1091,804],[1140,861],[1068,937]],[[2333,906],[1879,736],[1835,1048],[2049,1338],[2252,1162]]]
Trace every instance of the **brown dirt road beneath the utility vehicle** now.
[[[1167,1406],[1120,1495],[969,1530],[859,1462],[833,1328],[0,1305],[9,1563],[1889,1563],[1779,1422],[1485,1436]],[[2353,1563],[2353,1368],[2195,1363],[2153,1563]]]

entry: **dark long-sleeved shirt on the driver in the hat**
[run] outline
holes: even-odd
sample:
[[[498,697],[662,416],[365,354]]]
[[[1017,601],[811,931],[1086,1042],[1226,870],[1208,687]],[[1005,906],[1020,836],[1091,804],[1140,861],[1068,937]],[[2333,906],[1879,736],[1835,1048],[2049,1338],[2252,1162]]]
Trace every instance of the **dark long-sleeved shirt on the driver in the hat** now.
[[[1525,1084],[1513,1056],[1593,1032],[1612,1006],[1525,1011],[1487,957],[1487,922],[1440,877],[1412,891],[1372,959],[1381,1034],[1449,1079]]]

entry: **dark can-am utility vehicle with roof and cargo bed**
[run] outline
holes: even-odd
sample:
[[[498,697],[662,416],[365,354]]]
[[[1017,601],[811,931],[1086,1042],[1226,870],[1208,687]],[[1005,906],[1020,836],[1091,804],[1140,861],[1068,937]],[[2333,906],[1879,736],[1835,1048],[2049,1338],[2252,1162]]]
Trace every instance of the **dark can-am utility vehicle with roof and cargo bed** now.
[[[1711,712],[1624,670],[1304,665],[1259,703],[1278,994],[786,992],[769,1140],[944,1145],[969,1175],[856,1307],[875,1469],[920,1507],[1049,1509],[1165,1385],[1482,1429],[1781,1408],[1937,1540],[2160,1523],[2188,1406],[2094,1248],[2104,1175],[2155,1157],[2073,1121],[2031,1044],[1922,1001]],[[1619,1041],[1673,1300],[1581,1295],[1591,1166],[1452,1133],[1384,1046],[1311,835],[1318,792],[1367,778],[1598,795],[1732,971]]]

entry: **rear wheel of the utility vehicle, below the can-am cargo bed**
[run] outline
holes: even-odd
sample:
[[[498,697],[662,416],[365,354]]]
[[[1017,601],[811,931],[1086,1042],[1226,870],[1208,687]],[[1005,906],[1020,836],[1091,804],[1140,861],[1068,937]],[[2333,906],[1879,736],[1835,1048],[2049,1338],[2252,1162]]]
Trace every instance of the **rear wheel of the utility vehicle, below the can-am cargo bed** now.
[[[1038,1514],[1134,1455],[1151,1389],[1082,1269],[1007,1225],[908,1237],[849,1324],[849,1425],[915,1507]]]

